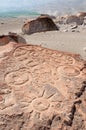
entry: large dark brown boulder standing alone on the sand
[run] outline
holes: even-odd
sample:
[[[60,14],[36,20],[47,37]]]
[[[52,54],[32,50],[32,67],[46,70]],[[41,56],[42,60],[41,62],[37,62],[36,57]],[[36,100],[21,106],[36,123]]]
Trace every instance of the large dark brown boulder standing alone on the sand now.
[[[48,16],[40,16],[36,20],[32,20],[23,25],[22,31],[24,34],[32,34],[36,32],[59,30],[52,19]]]

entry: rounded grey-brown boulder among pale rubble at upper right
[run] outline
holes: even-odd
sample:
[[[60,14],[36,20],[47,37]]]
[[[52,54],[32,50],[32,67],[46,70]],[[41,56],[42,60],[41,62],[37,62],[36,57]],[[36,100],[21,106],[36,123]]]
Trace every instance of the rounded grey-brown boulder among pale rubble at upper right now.
[[[66,24],[76,23],[77,25],[82,25],[84,22],[84,19],[82,17],[78,17],[76,15],[68,16],[66,19]]]

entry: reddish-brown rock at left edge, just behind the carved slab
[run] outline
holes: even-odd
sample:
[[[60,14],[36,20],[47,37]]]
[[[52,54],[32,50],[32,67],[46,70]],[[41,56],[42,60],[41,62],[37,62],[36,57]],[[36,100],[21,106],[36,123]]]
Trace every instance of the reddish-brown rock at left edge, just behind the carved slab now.
[[[8,35],[0,36],[0,46],[8,44],[9,42],[12,42],[12,41],[16,43],[26,43],[25,39],[17,35],[16,33],[9,32]]]

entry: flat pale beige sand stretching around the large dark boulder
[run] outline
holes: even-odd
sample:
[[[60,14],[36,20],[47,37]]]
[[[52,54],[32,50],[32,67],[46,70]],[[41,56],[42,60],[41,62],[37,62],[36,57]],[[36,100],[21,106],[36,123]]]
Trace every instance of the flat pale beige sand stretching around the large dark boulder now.
[[[16,32],[22,35],[21,28],[29,18],[2,18],[0,19],[0,35]],[[50,31],[22,35],[28,44],[42,45],[55,50],[78,53],[86,60],[86,27],[79,27],[79,31],[65,32]]]

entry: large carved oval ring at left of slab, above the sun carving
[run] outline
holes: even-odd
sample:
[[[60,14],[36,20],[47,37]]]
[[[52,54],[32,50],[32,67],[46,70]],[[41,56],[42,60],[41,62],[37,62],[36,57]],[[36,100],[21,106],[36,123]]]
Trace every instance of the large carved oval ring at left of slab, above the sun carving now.
[[[20,86],[30,82],[30,74],[26,69],[19,69],[17,71],[6,74],[5,81],[10,86]]]

